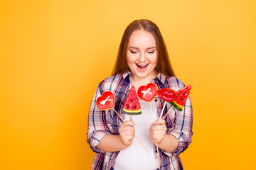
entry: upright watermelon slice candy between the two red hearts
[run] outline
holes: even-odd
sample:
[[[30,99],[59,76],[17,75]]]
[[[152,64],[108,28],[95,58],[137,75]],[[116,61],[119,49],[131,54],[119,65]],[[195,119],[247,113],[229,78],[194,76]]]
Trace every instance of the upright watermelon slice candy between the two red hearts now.
[[[139,98],[137,96],[134,86],[132,86],[132,88],[129,91],[129,94],[124,103],[124,108],[122,109],[122,113],[128,115],[142,114],[141,106],[139,104]]]

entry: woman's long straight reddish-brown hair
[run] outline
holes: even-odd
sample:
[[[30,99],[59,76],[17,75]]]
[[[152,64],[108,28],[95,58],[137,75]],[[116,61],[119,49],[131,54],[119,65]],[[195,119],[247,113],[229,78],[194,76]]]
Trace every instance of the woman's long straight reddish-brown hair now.
[[[122,36],[122,40],[119,45],[117,60],[114,64],[112,75],[123,74],[129,70],[127,64],[127,46],[129,38],[131,37],[134,30],[146,30],[154,36],[158,56],[157,64],[155,67],[156,72],[161,72],[166,77],[175,76],[174,69],[171,67],[171,62],[169,60],[164,38],[162,37],[159,28],[152,21],[145,19],[133,21],[124,30],[124,35]]]

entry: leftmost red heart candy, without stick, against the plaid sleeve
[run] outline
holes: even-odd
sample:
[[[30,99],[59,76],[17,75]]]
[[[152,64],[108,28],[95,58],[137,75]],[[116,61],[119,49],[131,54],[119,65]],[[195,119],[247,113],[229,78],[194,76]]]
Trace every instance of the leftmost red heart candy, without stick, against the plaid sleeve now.
[[[109,110],[114,106],[114,94],[111,91],[104,91],[102,96],[96,100],[97,107],[102,110]]]

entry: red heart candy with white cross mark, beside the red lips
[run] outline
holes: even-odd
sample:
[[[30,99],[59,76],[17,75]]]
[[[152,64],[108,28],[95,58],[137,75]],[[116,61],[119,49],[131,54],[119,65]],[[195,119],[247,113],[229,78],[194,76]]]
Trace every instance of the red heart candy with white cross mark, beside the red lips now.
[[[154,83],[149,83],[146,86],[140,86],[138,96],[144,101],[152,101],[156,96],[157,86]]]

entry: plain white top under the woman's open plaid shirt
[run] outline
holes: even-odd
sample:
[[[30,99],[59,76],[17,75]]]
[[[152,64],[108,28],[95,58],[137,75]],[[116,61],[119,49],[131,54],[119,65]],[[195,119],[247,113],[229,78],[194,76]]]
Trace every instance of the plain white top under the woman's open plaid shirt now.
[[[139,100],[142,114],[132,115],[132,120],[136,124],[134,126],[135,135],[142,142],[144,147],[149,151],[146,152],[144,147],[138,142],[136,137],[132,141],[132,145],[123,149],[117,155],[114,163],[114,170],[155,170],[156,160],[154,157],[154,144],[150,140],[149,127],[153,123],[150,103]],[[156,120],[156,103],[151,102],[154,121]],[[124,121],[130,120],[130,115],[125,115]]]

